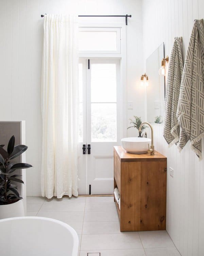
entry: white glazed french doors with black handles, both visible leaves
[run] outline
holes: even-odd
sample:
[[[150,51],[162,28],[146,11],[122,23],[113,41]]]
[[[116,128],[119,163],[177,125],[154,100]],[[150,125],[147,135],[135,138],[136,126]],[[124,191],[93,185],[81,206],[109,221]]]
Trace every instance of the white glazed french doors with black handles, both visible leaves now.
[[[120,60],[80,59],[79,84],[79,194],[113,194],[113,146],[121,137]]]

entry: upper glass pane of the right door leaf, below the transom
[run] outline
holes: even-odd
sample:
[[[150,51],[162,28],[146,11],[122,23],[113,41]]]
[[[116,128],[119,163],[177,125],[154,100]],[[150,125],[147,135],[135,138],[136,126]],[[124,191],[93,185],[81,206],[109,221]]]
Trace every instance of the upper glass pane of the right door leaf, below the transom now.
[[[91,102],[116,102],[116,64],[91,64]]]

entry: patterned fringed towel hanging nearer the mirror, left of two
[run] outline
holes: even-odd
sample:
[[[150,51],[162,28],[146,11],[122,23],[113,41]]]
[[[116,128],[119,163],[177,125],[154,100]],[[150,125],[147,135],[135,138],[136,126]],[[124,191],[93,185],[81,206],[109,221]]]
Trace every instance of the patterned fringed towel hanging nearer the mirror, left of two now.
[[[163,136],[169,146],[179,141],[180,128],[176,117],[179,101],[181,78],[183,73],[182,38],[175,37],[167,76],[167,88],[165,95]]]

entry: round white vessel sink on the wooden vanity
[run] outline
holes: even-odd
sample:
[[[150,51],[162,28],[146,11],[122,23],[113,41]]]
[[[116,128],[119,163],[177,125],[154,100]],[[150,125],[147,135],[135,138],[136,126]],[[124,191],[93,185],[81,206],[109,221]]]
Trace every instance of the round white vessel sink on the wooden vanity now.
[[[121,139],[125,151],[135,154],[146,153],[151,146],[151,139],[141,137],[130,137]],[[148,147],[149,144],[149,147]]]

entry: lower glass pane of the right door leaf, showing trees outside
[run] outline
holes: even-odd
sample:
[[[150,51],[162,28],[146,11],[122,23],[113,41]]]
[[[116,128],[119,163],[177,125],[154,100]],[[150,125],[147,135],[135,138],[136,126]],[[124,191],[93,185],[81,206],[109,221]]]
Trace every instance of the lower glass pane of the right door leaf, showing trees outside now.
[[[91,142],[117,141],[116,103],[91,103]]]

